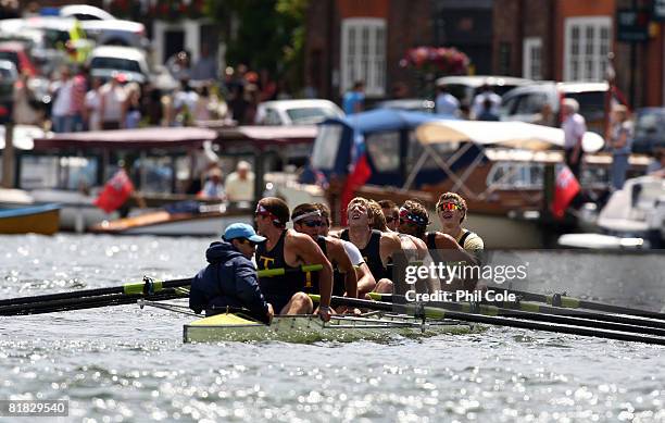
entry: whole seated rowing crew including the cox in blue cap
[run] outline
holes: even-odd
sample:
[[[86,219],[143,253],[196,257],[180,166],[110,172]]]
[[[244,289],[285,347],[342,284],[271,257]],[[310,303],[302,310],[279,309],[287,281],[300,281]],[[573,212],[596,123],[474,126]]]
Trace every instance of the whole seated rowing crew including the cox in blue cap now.
[[[275,314],[317,313],[327,321],[330,314],[357,312],[332,307],[332,296],[403,293],[400,272],[405,265],[481,265],[482,239],[463,227],[466,201],[444,192],[436,211],[441,231],[427,232],[427,209],[416,200],[398,207],[356,197],[347,207],[348,227],[330,231],[326,204],[303,203],[290,211],[279,198],[263,198],[254,212],[258,233],[250,225],[231,224],[208,248],[209,264],[192,279],[189,307],[208,315],[242,310],[264,323]],[[292,228],[287,228],[289,221]],[[312,265],[319,270],[303,268]],[[260,277],[256,270],[281,272]],[[443,282],[430,275],[415,286],[425,293],[485,288],[477,276]],[[312,294],[321,296],[317,307]]]

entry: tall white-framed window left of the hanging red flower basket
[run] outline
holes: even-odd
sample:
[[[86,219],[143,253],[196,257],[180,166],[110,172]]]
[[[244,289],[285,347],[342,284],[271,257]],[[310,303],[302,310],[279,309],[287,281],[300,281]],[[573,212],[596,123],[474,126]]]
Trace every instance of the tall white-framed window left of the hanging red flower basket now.
[[[342,21],[341,84],[343,94],[355,80],[365,83],[367,96],[386,91],[386,21],[351,17]]]

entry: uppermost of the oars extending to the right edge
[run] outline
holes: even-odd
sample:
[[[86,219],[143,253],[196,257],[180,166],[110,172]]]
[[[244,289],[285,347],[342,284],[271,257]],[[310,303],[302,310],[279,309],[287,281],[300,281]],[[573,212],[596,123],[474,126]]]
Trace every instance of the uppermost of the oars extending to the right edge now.
[[[597,310],[597,311],[605,311],[608,313],[618,313],[618,314],[628,314],[628,315],[637,315],[640,318],[649,318],[655,320],[665,320],[665,313],[658,313],[656,311],[633,309],[629,307],[622,306],[613,306],[604,302],[595,302],[595,301],[587,301],[575,297],[567,297],[562,294],[553,294],[553,295],[543,295],[543,294],[535,294],[528,293],[524,290],[516,289],[505,289],[501,287],[491,286],[490,289],[494,289],[497,291],[504,291],[515,294],[522,299],[527,301],[536,301],[536,302],[544,302],[550,306],[562,307],[565,309],[587,309],[587,310]]]

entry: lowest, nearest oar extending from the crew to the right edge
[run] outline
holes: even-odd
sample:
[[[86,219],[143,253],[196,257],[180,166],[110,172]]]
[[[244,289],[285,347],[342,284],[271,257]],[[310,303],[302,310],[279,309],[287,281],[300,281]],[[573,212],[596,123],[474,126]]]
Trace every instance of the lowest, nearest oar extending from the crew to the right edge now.
[[[315,296],[311,296],[313,300],[316,300]],[[509,318],[501,318],[495,315],[482,315],[482,314],[473,314],[466,312],[459,311],[450,311],[436,307],[428,307],[423,304],[398,304],[390,302],[380,302],[373,300],[362,300],[356,298],[346,298],[346,297],[332,297],[331,300],[332,306],[347,306],[347,307],[355,307],[355,308],[366,308],[374,310],[382,310],[382,311],[396,311],[402,312],[415,316],[423,316],[426,319],[453,319],[464,322],[474,322],[474,323],[485,323],[491,324],[495,326],[507,326],[507,327],[517,327],[525,329],[536,329],[536,331],[544,331],[544,332],[553,332],[561,334],[569,334],[569,335],[579,335],[579,336],[592,336],[598,338],[605,339],[616,339],[616,340],[626,340],[633,343],[645,343],[645,344],[655,344],[655,345],[664,345],[665,338],[661,337],[651,337],[651,336],[640,336],[625,332],[614,332],[614,331],[605,331],[605,329],[593,329],[589,327],[575,327],[569,325],[562,325],[555,323],[541,323],[541,322],[531,322]]]

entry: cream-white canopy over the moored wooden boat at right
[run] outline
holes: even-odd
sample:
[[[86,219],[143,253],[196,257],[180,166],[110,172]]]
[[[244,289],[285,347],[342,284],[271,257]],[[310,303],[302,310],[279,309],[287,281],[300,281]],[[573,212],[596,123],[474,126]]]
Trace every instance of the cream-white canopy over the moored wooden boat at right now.
[[[416,129],[421,144],[472,141],[525,150],[563,148],[563,129],[524,122],[432,121]],[[603,148],[603,138],[587,132],[582,138],[586,152]]]

